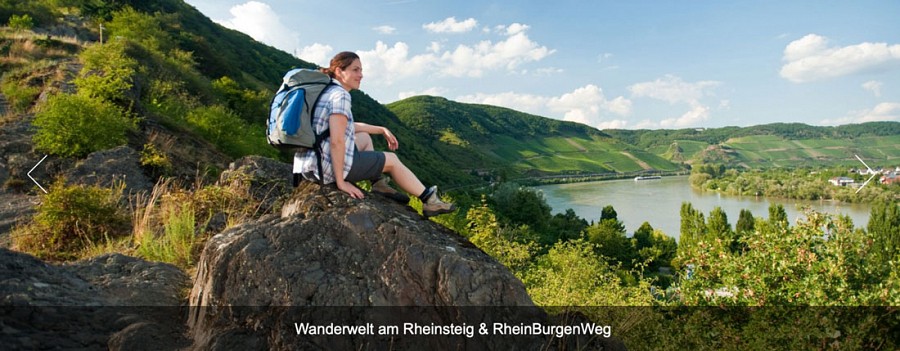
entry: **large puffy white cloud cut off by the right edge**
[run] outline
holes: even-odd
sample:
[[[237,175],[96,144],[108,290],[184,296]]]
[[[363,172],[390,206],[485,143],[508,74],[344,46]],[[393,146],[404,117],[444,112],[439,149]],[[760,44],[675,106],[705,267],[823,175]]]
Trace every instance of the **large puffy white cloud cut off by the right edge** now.
[[[861,43],[830,47],[828,39],[808,34],[784,49],[781,76],[795,83],[900,67],[900,44]]]

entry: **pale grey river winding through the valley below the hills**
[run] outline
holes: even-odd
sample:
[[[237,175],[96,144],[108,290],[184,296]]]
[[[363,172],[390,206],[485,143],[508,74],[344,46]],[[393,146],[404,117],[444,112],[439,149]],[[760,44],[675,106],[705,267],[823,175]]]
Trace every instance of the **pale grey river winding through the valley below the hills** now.
[[[848,204],[833,201],[802,201],[751,196],[729,196],[714,192],[702,192],[691,188],[687,176],[663,177],[658,180],[633,179],[587,183],[543,185],[535,187],[544,193],[553,213],[573,209],[575,214],[588,222],[600,220],[603,207],[612,205],[618,218],[625,224],[631,236],[644,222],[655,229],[678,239],[681,227],[681,203],[690,202],[695,209],[709,218],[709,212],[721,207],[728,215],[728,223],[734,228],[741,209],[750,210],[754,218],[768,218],[769,204],[784,206],[791,225],[804,218],[801,206],[833,215],[845,214],[853,220],[855,228],[869,224],[870,204]]]

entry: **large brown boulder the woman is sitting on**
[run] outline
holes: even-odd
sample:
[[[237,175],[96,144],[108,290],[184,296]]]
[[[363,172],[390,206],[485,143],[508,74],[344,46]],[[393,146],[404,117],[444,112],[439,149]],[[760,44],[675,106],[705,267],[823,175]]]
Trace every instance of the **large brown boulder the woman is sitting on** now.
[[[546,319],[522,282],[465,238],[376,195],[355,200],[311,183],[301,184],[280,216],[211,238],[190,304],[195,346],[212,349],[532,349],[546,342],[297,335],[301,322],[478,328],[492,318]]]

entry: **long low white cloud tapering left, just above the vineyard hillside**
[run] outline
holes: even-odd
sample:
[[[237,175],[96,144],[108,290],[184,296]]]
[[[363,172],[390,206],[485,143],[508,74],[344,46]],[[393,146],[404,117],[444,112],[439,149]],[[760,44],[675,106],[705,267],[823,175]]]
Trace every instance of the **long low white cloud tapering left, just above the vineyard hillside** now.
[[[456,98],[460,102],[508,107],[539,116],[578,122],[595,128],[623,128],[627,121],[609,119],[610,114],[631,113],[631,101],[624,97],[608,100],[600,87],[589,84],[560,96],[540,96],[505,92],[474,94]]]

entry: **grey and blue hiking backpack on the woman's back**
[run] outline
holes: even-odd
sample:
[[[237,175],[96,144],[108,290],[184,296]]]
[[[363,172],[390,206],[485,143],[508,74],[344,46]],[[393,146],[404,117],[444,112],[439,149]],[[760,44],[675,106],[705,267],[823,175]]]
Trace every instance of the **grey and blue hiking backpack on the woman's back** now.
[[[325,88],[332,84],[328,75],[316,70],[288,71],[269,107],[266,128],[269,144],[289,151],[314,148],[318,152],[322,136],[327,136],[328,131],[316,133],[312,125],[313,109]]]

